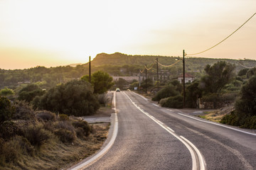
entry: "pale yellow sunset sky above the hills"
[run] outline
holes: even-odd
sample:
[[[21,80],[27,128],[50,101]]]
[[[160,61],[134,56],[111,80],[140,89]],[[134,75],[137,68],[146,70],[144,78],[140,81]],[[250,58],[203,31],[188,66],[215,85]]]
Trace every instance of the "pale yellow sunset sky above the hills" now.
[[[0,68],[86,63],[102,52],[181,57],[255,12],[256,0],[0,0]],[[256,15],[195,57],[256,60]]]

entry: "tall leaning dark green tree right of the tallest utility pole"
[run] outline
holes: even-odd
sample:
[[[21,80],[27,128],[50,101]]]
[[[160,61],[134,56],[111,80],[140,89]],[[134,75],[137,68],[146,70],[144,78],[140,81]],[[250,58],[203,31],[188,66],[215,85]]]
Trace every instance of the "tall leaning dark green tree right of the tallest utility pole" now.
[[[207,93],[218,93],[225,84],[228,84],[233,79],[234,64],[223,61],[217,62],[210,66],[206,65],[206,76],[201,79],[201,87]]]

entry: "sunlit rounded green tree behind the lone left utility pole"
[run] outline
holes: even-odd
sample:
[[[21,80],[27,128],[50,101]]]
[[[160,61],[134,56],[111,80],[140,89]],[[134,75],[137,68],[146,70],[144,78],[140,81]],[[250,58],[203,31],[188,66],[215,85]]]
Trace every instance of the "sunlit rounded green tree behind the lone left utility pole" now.
[[[81,79],[89,81],[89,76],[85,75]],[[113,78],[107,72],[97,71],[92,74],[91,84],[94,94],[103,94],[114,85],[114,82]]]

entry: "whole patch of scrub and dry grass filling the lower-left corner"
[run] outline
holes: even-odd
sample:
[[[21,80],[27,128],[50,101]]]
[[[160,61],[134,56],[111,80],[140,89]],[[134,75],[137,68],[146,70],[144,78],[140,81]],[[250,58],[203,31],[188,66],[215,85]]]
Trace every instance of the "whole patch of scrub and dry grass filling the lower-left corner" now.
[[[0,98],[0,169],[63,169],[100,149],[108,127],[62,120],[24,101]]]

